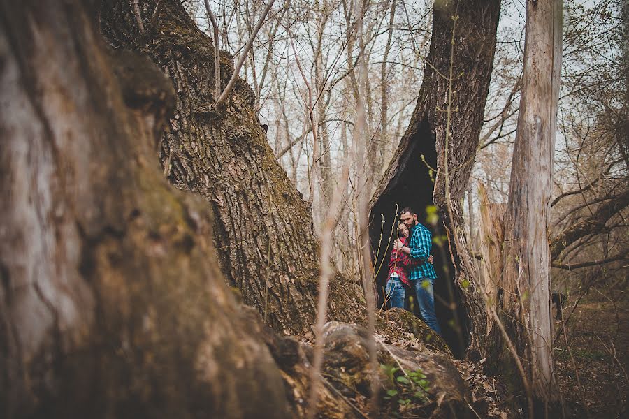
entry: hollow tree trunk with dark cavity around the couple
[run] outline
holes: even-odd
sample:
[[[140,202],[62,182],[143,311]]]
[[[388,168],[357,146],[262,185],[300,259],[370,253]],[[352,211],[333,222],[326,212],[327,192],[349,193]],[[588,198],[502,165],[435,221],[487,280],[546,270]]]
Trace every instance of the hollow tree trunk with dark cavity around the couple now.
[[[482,126],[499,14],[497,0],[435,4],[431,47],[417,106],[371,203],[374,253],[381,236],[380,214],[384,214],[386,249],[396,205],[400,205],[398,210],[411,205],[420,221],[429,205],[437,205],[439,226],[444,226],[449,243],[447,256],[433,247],[439,277],[435,293],[444,300],[444,304],[436,304],[437,314],[454,352],[462,355],[467,351],[472,357],[484,353],[486,316],[465,243],[461,201]],[[440,231],[441,227],[433,234],[438,238],[443,234]],[[386,256],[388,251],[381,250],[377,259]],[[384,271],[380,271],[379,281],[384,281]],[[449,308],[452,303],[458,306],[456,312]],[[450,320],[458,326],[449,327]]]

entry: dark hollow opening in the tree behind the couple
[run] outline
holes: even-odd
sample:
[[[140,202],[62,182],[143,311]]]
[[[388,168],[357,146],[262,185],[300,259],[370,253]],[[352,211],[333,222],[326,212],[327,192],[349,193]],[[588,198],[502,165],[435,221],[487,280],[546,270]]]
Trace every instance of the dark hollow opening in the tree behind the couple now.
[[[435,311],[442,328],[442,337],[447,341],[452,353],[461,358],[467,345],[465,309],[454,286],[454,265],[447,240],[444,238],[443,223],[428,220],[428,207],[434,205],[436,166],[435,139],[428,129],[428,124],[424,123],[419,125],[415,134],[407,141],[407,147],[400,154],[395,175],[384,189],[379,189],[376,193],[377,198],[370,205],[369,235],[376,270],[379,307],[382,307],[388,263],[401,210],[404,207],[412,207],[417,212],[419,222],[431,230],[433,233],[431,253],[438,277],[434,284]],[[433,214],[432,211],[431,213]],[[407,293],[407,299],[409,294],[414,296],[414,292]],[[417,304],[413,305],[415,314],[419,316]],[[454,310],[452,307],[455,307]]]

